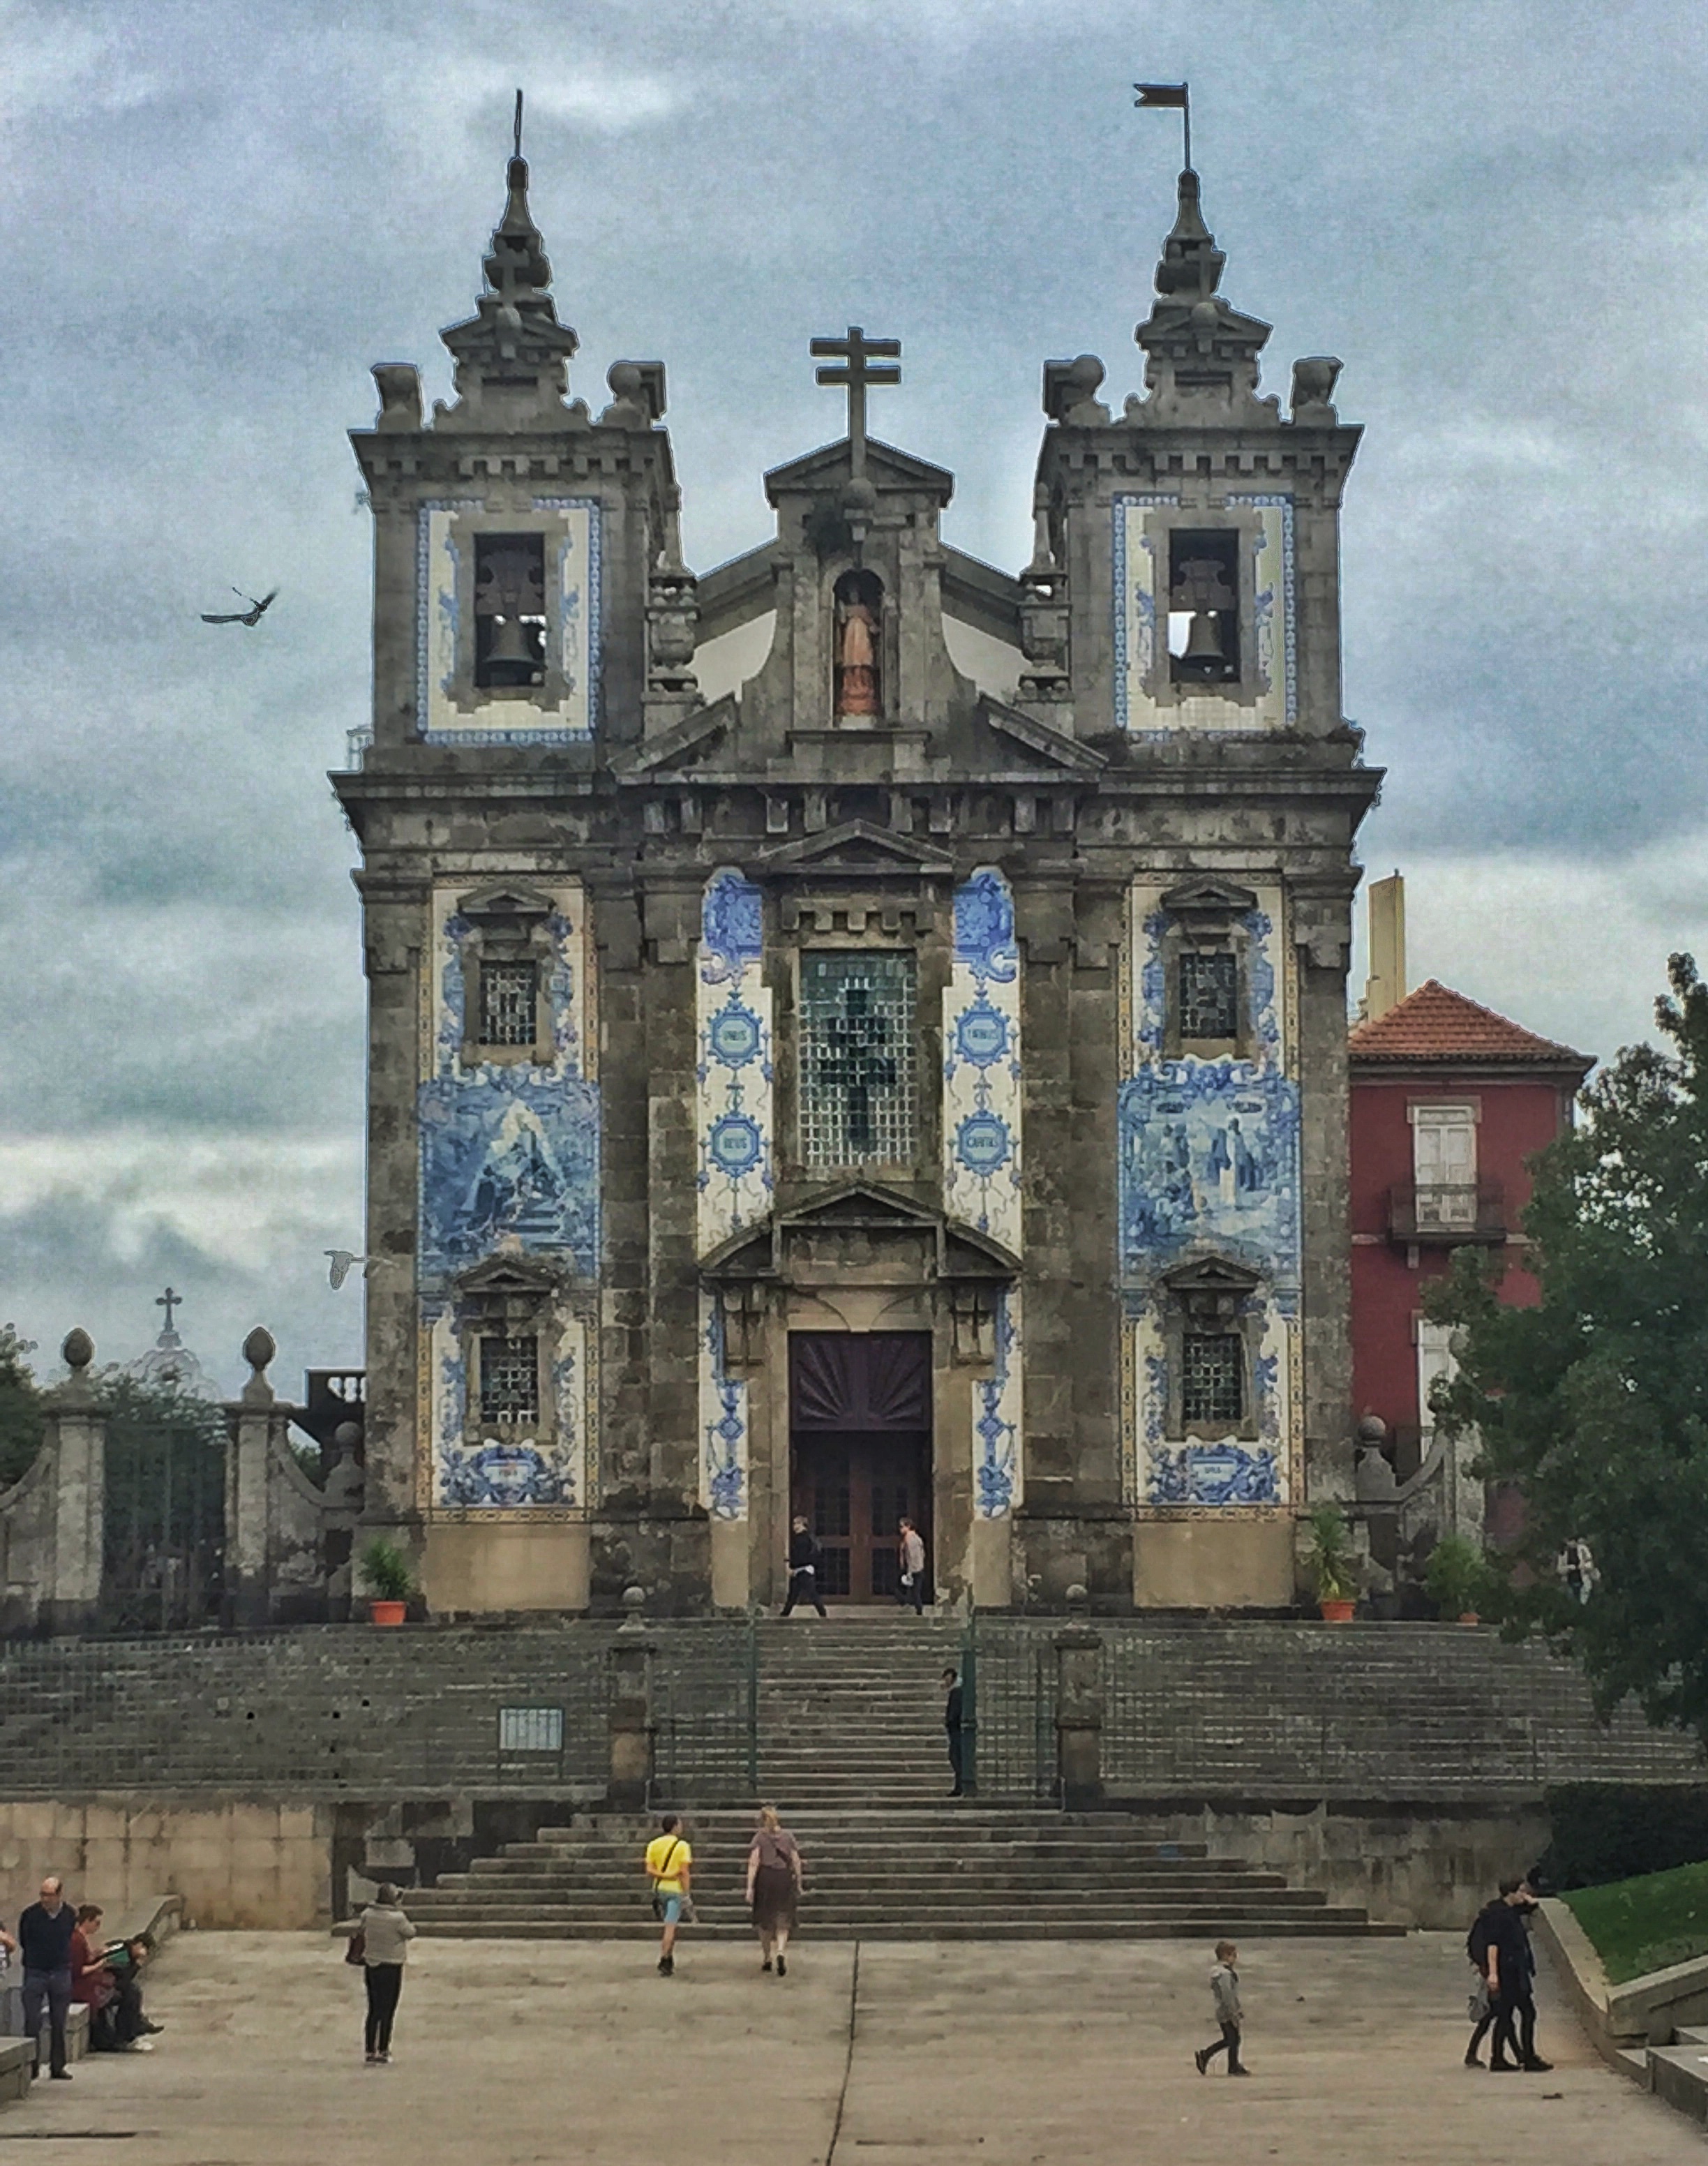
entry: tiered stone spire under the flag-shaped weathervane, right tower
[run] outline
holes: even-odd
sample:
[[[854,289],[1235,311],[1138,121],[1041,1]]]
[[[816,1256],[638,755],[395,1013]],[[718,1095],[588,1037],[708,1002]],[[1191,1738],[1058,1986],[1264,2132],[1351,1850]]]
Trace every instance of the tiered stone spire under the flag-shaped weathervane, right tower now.
[[[1156,301],[1132,334],[1145,351],[1143,401],[1128,401],[1128,418],[1143,422],[1258,422],[1279,420],[1275,399],[1258,396],[1258,355],[1269,325],[1240,316],[1221,299],[1227,258],[1204,223],[1197,173],[1180,175],[1180,208],[1156,266]]]

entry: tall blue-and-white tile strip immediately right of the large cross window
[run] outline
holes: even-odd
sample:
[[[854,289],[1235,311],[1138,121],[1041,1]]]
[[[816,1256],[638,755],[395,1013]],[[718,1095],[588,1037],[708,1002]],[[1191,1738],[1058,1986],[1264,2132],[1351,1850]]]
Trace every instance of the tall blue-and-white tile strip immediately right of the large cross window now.
[[[1020,949],[1013,895],[991,866],[955,890],[955,968],[944,990],[944,1209],[1020,1254]]]

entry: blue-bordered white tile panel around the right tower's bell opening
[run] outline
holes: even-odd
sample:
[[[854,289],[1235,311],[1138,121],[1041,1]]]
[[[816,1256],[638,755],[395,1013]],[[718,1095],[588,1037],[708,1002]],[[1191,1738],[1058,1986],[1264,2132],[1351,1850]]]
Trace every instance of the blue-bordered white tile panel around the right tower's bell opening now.
[[[1297,567],[1292,498],[1230,494],[1227,509],[1256,513],[1249,533],[1249,576],[1240,593],[1251,609],[1258,682],[1256,697],[1197,693],[1156,697],[1169,667],[1169,561],[1167,529],[1178,496],[1121,494],[1115,498],[1115,726],[1134,734],[1169,736],[1178,730],[1256,732],[1292,728],[1299,719]]]

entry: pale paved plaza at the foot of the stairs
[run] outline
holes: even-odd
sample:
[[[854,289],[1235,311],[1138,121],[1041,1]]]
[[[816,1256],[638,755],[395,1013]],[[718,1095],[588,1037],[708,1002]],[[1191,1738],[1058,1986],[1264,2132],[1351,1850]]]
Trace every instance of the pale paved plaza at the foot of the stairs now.
[[[149,2058],[0,2110],[30,2166],[1669,2166],[1702,2134],[1611,2075],[1543,1973],[1552,2075],[1459,2066],[1455,1934],[1253,1941],[1251,2082],[1193,2073],[1210,1952],[1169,1941],[803,1941],[786,1980],[693,1945],[426,1941],[390,2069],[362,1984],[310,1934],[186,1934]],[[855,2008],[853,2056],[849,2019]],[[831,2151],[833,2147],[833,2151]],[[19,2151],[19,2155],[24,2155]]]

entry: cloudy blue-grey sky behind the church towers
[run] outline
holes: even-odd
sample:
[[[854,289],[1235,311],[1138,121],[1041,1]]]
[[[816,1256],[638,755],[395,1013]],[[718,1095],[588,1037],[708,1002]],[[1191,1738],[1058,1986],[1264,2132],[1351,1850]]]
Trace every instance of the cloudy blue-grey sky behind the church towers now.
[[[1182,28],[1193,13],[1201,28]],[[691,561],[838,433],[807,338],[905,342],[875,431],[1017,565],[1039,364],[1132,325],[1195,84],[1269,388],[1338,353],[1346,704],[1411,973],[1606,1055],[1708,955],[1708,35],[1691,0],[0,0],[0,1319],[223,1382],[359,1358],[351,838],[368,366],[468,314],[528,89],[580,394],[669,366]],[[281,587],[210,630],[229,583]]]

